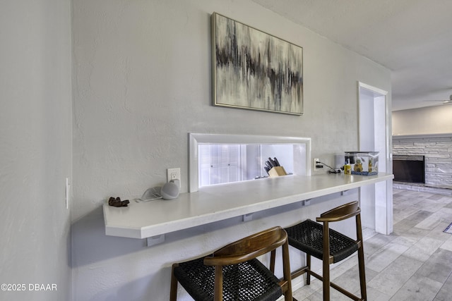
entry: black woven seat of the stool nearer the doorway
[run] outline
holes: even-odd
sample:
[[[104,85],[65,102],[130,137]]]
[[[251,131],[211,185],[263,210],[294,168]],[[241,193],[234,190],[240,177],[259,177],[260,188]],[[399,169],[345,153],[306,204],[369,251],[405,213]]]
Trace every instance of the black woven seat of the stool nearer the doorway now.
[[[323,226],[315,221],[307,220],[290,228],[285,228],[289,237],[289,245],[305,253],[322,259],[323,254]],[[333,229],[330,232],[330,254],[333,262],[340,262],[357,252],[358,244],[346,235]]]

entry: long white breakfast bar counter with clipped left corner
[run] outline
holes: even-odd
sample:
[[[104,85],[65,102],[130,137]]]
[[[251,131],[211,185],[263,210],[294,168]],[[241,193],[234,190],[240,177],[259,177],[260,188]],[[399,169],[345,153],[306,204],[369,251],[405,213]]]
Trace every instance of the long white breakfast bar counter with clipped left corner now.
[[[104,204],[105,234],[150,238],[392,179],[388,173],[282,176],[208,186],[177,199],[131,201],[129,207]]]

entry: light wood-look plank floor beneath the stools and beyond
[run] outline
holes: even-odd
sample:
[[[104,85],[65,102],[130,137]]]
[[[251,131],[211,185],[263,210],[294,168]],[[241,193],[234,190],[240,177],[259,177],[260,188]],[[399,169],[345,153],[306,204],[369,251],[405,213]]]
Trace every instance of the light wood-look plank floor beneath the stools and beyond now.
[[[363,229],[367,300],[452,300],[452,197],[394,190],[394,231]],[[357,257],[331,270],[333,282],[359,295]],[[315,279],[315,278],[311,278]],[[311,280],[294,292],[297,300],[322,300],[321,283]],[[331,289],[331,300],[350,300]]]

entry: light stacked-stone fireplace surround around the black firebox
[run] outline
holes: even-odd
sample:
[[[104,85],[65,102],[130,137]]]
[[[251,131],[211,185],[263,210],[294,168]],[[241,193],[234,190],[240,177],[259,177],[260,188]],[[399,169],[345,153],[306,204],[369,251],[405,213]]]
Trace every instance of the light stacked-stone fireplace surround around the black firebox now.
[[[394,188],[452,195],[452,133],[393,136],[393,154],[425,156],[425,184],[394,182]]]

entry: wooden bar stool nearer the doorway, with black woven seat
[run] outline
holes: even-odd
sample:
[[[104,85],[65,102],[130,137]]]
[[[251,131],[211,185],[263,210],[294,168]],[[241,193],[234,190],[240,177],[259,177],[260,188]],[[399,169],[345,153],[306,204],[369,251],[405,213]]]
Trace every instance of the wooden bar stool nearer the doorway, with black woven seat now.
[[[289,245],[296,247],[298,250],[306,253],[307,266],[292,272],[292,279],[307,273],[307,284],[311,283],[310,276],[314,276],[323,281],[323,300],[330,300],[330,286],[340,293],[347,295],[352,300],[367,300],[366,293],[366,275],[364,271],[364,250],[362,243],[361,229],[361,209],[358,202],[350,202],[340,207],[331,209],[321,214],[315,221],[303,221],[295,226],[286,228],[289,236]],[[356,235],[357,240],[347,237],[333,229],[329,228],[329,223],[335,221],[343,221],[355,216],[356,219]],[[331,283],[330,281],[330,264],[340,262],[350,257],[350,255],[358,252],[359,265],[359,285],[361,288],[361,297],[357,297],[344,288]],[[311,256],[322,260],[323,276],[311,271]],[[270,266],[270,269],[272,267]]]

